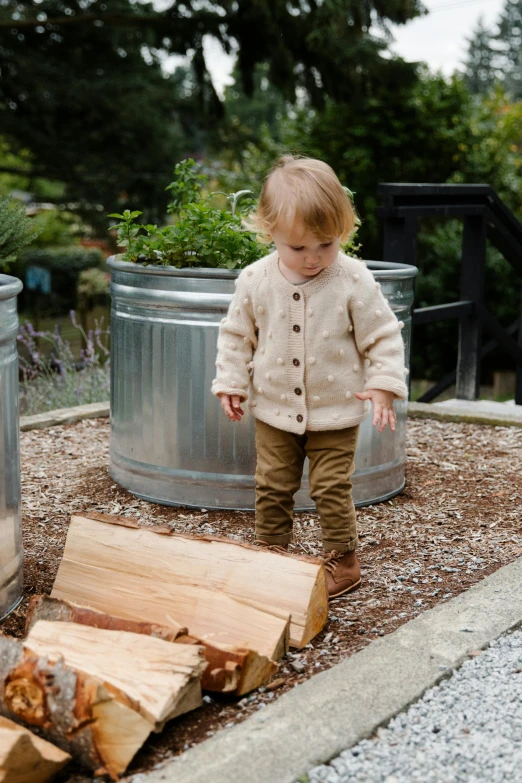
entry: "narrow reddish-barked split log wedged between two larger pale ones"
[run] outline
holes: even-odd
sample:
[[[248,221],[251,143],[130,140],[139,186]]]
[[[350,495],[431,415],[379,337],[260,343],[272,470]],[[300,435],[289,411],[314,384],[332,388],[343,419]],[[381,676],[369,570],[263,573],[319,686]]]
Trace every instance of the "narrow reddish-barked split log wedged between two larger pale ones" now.
[[[26,622],[27,634],[38,620],[80,623],[94,628],[147,634],[179,644],[201,645],[207,661],[201,675],[203,690],[243,696],[263,685],[277,671],[277,664],[266,656],[241,647],[226,648],[203,642],[190,636],[186,628],[174,630],[152,623],[125,620],[46,595],[31,599]]]

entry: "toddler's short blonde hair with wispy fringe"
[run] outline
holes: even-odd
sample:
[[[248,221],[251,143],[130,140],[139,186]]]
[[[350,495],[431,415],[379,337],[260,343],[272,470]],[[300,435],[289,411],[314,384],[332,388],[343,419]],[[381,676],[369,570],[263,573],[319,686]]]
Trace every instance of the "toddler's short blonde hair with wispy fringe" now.
[[[321,242],[337,237],[346,242],[356,226],[357,214],[327,163],[284,155],[268,174],[257,209],[245,224],[261,241],[268,242],[278,224],[292,228],[298,220]]]

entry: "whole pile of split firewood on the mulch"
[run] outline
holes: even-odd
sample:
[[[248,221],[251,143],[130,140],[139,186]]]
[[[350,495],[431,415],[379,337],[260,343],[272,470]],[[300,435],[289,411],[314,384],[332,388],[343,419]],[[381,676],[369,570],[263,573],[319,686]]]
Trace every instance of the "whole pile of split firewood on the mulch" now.
[[[314,558],[73,516],[26,638],[0,635],[0,783],[49,780],[71,756],[116,780],[202,689],[259,687],[327,614]]]

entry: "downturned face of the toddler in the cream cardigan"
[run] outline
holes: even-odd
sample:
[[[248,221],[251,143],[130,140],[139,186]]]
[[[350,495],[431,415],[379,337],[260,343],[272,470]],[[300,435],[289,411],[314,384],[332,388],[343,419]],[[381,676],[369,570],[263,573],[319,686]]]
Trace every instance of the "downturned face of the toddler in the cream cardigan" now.
[[[320,242],[302,223],[292,227],[277,225],[272,230],[272,240],[283,267],[301,278],[315,277],[331,266],[339,252],[340,240]],[[282,270],[283,273],[285,270]]]

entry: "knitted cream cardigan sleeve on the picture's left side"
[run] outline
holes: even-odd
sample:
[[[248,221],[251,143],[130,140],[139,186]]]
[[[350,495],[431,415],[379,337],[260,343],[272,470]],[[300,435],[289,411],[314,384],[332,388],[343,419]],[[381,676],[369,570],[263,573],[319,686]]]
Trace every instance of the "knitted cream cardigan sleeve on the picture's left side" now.
[[[219,327],[216,377],[212,394],[234,394],[248,399],[250,368],[257,345],[253,306],[244,271],[239,275],[234,298]]]

